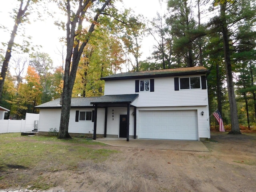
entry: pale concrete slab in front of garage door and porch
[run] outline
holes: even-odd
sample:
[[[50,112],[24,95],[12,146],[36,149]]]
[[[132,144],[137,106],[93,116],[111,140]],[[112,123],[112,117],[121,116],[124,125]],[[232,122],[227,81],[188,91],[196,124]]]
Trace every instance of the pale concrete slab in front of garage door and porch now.
[[[209,152],[208,148],[201,141],[130,139],[127,142],[126,138],[97,138],[94,141],[118,147]]]

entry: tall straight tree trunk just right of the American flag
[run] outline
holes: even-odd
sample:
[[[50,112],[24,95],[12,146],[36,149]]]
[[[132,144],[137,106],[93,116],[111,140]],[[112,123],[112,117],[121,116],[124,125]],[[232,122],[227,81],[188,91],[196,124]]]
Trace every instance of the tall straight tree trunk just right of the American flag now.
[[[231,131],[228,134],[241,134],[239,123],[238,123],[238,114],[236,106],[236,98],[233,86],[233,76],[230,60],[230,48],[229,48],[229,36],[228,36],[228,25],[226,23],[226,2],[220,4],[220,18],[222,21],[222,40],[224,48],[224,58],[225,58],[225,68],[226,68],[226,79],[228,87],[228,101],[230,108],[230,119],[231,119]]]

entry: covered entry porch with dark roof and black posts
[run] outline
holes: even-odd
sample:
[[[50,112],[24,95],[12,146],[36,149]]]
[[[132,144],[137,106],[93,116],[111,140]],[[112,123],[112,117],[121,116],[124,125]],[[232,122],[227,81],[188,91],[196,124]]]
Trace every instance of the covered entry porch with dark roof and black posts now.
[[[129,131],[130,131],[130,108],[134,108],[134,139],[136,139],[136,106],[132,104],[138,94],[124,94],[124,95],[104,95],[96,98],[91,104],[94,106],[94,131],[93,139],[96,140],[97,131],[97,110],[98,108],[105,108],[105,122],[104,122],[104,137],[107,137],[107,119],[108,116],[114,116],[114,114],[108,114],[108,108],[126,108],[126,116],[120,116],[120,126],[126,128],[126,133],[122,132],[122,136],[126,136],[126,140],[129,141]],[[123,122],[121,120],[124,120]],[[113,119],[114,120],[114,119]],[[126,125],[124,124],[126,123]],[[120,130],[121,131],[121,130]],[[120,137],[120,134],[119,134]]]

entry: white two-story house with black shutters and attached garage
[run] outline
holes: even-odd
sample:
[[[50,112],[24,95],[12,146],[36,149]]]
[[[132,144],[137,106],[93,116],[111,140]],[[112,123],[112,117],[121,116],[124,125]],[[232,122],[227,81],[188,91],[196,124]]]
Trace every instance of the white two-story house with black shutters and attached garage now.
[[[127,72],[103,77],[104,96],[72,98],[69,133],[104,137],[210,138],[204,67]],[[60,125],[60,99],[40,108],[39,132]]]

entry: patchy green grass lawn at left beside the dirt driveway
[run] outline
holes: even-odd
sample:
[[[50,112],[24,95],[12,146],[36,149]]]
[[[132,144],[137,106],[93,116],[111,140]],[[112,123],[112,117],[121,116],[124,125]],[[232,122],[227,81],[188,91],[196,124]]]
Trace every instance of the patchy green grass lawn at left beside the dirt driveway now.
[[[9,188],[16,183],[15,180],[20,180],[18,184],[21,186],[46,190],[54,184],[44,183],[40,172],[76,170],[82,161],[103,162],[110,154],[118,152],[104,149],[104,146],[79,137],[61,140],[56,136],[0,134],[0,189]],[[28,179],[29,172],[33,175],[37,171],[37,178]]]

